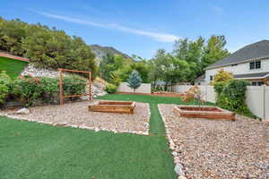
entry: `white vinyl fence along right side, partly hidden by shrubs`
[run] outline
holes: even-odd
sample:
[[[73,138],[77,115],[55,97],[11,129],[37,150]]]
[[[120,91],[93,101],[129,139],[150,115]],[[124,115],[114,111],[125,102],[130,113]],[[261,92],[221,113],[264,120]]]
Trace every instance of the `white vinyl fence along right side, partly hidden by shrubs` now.
[[[172,87],[174,92],[183,93],[191,85],[176,85]],[[213,86],[199,86],[202,93],[203,99],[209,102],[216,101],[216,93]],[[246,94],[247,107],[252,113],[262,119],[269,119],[269,86],[248,86]]]

